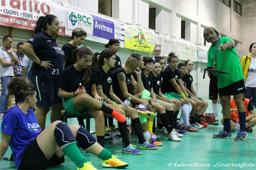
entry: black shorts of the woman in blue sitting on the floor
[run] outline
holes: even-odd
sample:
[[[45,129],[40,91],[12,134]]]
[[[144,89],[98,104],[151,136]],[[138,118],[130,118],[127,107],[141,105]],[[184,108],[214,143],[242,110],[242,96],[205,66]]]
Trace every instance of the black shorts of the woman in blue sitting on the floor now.
[[[47,169],[63,162],[65,162],[64,156],[60,158],[55,153],[50,161],[48,161],[35,139],[24,150],[18,169]]]

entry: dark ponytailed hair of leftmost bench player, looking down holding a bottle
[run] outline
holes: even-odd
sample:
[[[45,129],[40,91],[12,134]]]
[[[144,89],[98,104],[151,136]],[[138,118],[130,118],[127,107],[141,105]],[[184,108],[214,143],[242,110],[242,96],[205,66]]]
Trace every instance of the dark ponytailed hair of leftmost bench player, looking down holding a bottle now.
[[[90,49],[88,49],[87,47],[82,47],[82,48],[77,48],[75,49],[75,51],[73,51],[73,60],[75,61],[75,63],[77,63],[77,55],[79,56],[79,58],[85,58],[87,55],[92,55],[92,51]],[[83,84],[87,84],[88,81],[91,78],[91,66],[88,65],[86,69],[83,69],[83,77],[85,78],[85,80],[83,81]]]

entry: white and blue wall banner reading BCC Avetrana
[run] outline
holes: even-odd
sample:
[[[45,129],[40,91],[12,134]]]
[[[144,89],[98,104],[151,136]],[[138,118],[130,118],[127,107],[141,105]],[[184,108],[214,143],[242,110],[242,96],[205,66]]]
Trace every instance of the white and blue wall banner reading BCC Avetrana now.
[[[120,41],[124,48],[124,24],[99,14],[77,9],[65,4],[66,35],[72,35],[72,30],[81,27],[87,31],[87,40],[107,44],[110,39]]]

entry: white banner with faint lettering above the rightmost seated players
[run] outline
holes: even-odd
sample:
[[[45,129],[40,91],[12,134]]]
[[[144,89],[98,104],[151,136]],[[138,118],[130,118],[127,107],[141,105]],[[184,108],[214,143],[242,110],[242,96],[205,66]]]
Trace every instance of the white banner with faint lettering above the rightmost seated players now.
[[[179,55],[179,59],[197,61],[198,50],[196,45],[184,39],[176,38],[176,40],[176,54]]]

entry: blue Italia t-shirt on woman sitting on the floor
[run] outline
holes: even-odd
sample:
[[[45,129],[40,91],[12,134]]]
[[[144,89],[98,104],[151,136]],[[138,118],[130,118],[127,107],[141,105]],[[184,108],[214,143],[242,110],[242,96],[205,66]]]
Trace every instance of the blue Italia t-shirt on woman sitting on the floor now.
[[[12,135],[10,146],[18,168],[22,153],[41,132],[35,113],[28,109],[27,114],[24,114],[18,106],[14,106],[3,115],[1,130],[7,135]]]

